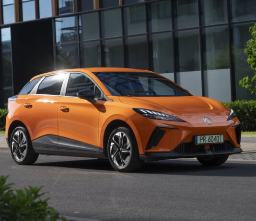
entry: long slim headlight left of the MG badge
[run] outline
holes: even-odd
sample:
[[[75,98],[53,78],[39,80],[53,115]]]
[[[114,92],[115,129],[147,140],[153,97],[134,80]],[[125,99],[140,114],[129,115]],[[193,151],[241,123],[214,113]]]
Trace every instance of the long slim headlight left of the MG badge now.
[[[157,112],[154,110],[147,110],[147,109],[141,109],[141,108],[133,108],[134,111],[141,114],[144,117],[154,119],[154,120],[164,120],[164,121],[177,121],[177,122],[185,122],[181,119],[178,119],[176,117],[173,117],[171,115]]]

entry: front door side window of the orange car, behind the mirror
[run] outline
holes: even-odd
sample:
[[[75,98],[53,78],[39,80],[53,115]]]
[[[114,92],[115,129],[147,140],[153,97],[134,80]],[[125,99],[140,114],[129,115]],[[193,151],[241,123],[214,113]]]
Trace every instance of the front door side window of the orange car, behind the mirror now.
[[[91,79],[82,74],[70,74],[66,96],[76,97],[76,94],[83,89],[94,91],[95,84]]]

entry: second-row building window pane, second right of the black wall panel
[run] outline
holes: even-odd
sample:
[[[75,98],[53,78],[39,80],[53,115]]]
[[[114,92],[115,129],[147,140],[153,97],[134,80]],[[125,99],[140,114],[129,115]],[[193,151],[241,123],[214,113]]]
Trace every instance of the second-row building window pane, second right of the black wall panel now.
[[[98,12],[80,15],[79,35],[81,41],[100,38]]]

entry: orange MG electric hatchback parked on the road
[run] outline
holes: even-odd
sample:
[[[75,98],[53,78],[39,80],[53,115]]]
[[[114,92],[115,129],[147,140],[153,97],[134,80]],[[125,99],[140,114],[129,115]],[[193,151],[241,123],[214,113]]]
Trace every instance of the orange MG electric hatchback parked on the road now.
[[[33,77],[9,98],[6,139],[17,164],[39,154],[108,158],[120,172],[143,161],[240,153],[241,124],[219,101],[147,70],[79,68]]]

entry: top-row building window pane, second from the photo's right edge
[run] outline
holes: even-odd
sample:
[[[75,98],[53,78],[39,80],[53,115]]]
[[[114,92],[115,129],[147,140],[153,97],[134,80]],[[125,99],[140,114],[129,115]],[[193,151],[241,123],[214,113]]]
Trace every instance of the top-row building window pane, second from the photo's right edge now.
[[[203,0],[201,1],[202,25],[228,22],[226,0]]]

